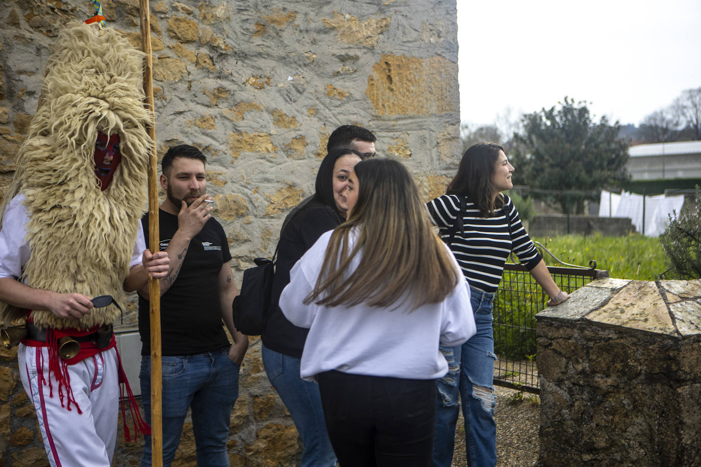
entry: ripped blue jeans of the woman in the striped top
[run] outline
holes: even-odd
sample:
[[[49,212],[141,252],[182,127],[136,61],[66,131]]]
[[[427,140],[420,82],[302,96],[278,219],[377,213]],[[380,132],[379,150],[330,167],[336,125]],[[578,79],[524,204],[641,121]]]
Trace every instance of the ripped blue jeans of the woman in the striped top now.
[[[433,465],[450,467],[455,445],[455,427],[460,403],[465,419],[465,452],[468,466],[496,465],[496,424],[494,423],[494,334],[493,293],[470,287],[477,334],[459,347],[440,347],[448,361],[448,373],[437,380],[436,431]]]

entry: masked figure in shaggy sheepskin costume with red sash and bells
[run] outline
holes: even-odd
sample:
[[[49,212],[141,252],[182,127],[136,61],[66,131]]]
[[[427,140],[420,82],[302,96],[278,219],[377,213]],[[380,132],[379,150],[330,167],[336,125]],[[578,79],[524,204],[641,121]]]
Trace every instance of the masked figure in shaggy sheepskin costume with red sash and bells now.
[[[27,321],[20,374],[52,466],[110,465],[126,382],[111,324],[125,291],[168,273],[139,225],[153,143],[142,58],[109,28],[60,34],[0,207],[0,324]]]

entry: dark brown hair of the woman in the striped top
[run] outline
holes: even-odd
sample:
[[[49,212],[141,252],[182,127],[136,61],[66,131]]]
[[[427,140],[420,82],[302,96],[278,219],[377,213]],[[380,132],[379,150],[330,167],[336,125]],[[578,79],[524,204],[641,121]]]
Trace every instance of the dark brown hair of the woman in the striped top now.
[[[499,196],[499,190],[491,181],[499,151],[506,154],[503,146],[496,143],[470,146],[460,160],[458,173],[446,189],[449,195],[468,196],[482,217],[493,215],[504,204],[503,197]]]

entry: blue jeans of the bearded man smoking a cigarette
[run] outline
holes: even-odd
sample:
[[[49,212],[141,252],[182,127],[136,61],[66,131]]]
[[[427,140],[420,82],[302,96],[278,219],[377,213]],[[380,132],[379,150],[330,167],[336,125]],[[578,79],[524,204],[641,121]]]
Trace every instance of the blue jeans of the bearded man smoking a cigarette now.
[[[231,409],[238,397],[238,365],[229,347],[203,354],[161,357],[163,372],[163,466],[170,466],[180,442],[188,407],[192,408],[198,466],[229,466],[226,441]],[[151,357],[141,358],[141,398],[151,423]],[[141,465],[151,465],[151,436],[144,437]]]

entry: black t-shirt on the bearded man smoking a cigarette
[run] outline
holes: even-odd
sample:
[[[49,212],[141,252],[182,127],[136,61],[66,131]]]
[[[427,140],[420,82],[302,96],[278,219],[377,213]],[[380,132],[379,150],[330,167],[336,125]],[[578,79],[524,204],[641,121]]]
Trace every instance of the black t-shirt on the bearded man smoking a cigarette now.
[[[177,216],[158,210],[161,251],[177,231]],[[149,215],[142,218],[149,245]],[[149,249],[150,246],[149,246]],[[154,251],[151,249],[151,251]],[[210,218],[190,242],[175,282],[161,295],[161,352],[163,355],[193,355],[229,345],[223,328],[219,302],[219,272],[231,253],[224,229]],[[139,335],[142,355],[151,351],[149,300],[139,295]]]

